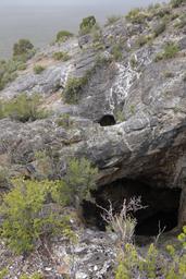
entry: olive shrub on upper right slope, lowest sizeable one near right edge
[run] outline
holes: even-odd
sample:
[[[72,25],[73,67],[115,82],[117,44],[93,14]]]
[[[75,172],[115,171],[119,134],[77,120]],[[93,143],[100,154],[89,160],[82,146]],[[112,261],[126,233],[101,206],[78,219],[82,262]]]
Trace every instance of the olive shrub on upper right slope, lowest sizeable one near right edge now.
[[[170,41],[164,46],[163,52],[160,52],[157,54],[154,61],[174,58],[178,51],[179,51],[178,45],[175,44],[174,41]]]

